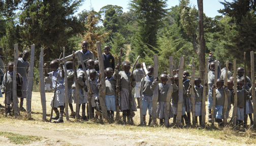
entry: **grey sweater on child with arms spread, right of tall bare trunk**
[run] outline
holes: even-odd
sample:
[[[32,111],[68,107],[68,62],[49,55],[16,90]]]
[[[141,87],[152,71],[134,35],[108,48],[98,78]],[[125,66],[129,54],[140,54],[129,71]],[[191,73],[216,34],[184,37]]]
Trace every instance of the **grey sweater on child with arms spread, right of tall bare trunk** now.
[[[227,97],[230,96],[230,91],[228,88],[224,89],[223,87],[221,89],[215,89],[216,90],[216,105],[224,105],[225,101],[225,92]],[[211,90],[211,96],[213,94],[213,89]]]

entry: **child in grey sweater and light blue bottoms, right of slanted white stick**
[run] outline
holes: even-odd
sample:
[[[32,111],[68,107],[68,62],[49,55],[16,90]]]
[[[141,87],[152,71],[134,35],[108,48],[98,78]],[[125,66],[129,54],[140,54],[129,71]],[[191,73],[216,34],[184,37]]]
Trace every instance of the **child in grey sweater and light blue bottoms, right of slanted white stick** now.
[[[144,77],[144,84],[142,85],[141,80],[141,90],[143,90],[142,94],[142,115],[143,115],[143,124],[146,124],[146,114],[148,109],[148,115],[149,115],[149,122],[148,126],[150,126],[152,122],[152,115],[151,115],[151,108],[152,108],[152,100],[153,100],[153,91],[150,89],[150,86],[152,85],[154,81],[153,72],[154,67],[152,65],[149,65],[147,67],[148,74],[146,77]]]

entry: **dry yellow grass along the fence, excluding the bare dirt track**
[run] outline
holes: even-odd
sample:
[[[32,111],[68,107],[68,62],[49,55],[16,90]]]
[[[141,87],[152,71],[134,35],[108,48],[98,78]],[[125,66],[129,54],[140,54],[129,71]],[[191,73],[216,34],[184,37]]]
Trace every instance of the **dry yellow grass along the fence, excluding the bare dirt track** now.
[[[52,93],[46,93],[47,100],[47,119],[50,114],[50,98]],[[0,98],[0,103],[3,103],[4,98]],[[75,104],[73,104],[75,109]],[[140,123],[139,110],[134,118],[135,125],[123,125],[115,123],[103,123],[93,121],[75,121],[70,118],[63,124],[54,124],[42,121],[42,106],[40,101],[40,93],[33,92],[32,97],[31,118],[26,118],[26,113],[21,112],[21,117],[5,117],[0,115],[1,125],[13,127],[38,128],[46,130],[60,130],[76,135],[93,136],[107,135],[114,137],[114,140],[131,141],[132,145],[245,145],[256,144],[256,139],[251,135],[252,129],[232,129],[212,127],[206,124],[205,127],[200,126],[138,126]],[[81,114],[81,113],[80,113]],[[208,117],[208,116],[206,116]],[[64,117],[65,118],[65,117]],[[206,119],[208,120],[208,119]],[[146,118],[148,121],[148,117]],[[172,120],[170,121],[172,122]],[[238,134],[238,131],[243,131],[245,134]],[[33,135],[33,134],[32,134]],[[106,143],[107,144],[107,143]],[[65,145],[65,144],[64,144]],[[66,145],[74,145],[67,142]],[[76,144],[75,144],[76,145]]]

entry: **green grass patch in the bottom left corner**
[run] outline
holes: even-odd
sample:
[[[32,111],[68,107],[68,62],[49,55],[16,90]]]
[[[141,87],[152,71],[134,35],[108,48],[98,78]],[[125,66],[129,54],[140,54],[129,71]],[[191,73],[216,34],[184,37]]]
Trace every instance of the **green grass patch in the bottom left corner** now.
[[[31,136],[31,135],[20,135],[12,132],[0,132],[0,136],[5,136],[14,144],[28,144],[34,141],[40,141],[43,137]]]

